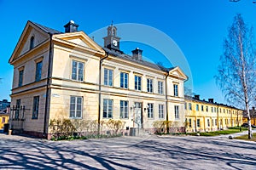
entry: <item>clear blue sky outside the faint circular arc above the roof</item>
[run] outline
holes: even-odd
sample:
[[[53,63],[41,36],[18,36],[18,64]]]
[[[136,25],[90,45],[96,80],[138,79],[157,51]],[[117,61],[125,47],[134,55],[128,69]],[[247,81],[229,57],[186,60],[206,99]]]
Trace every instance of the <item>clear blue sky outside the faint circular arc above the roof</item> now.
[[[113,20],[117,26],[122,23],[150,26],[171,37],[189,63],[195,94],[200,94],[202,99],[214,98],[225,103],[213,77],[217,74],[227,28],[237,13],[242,14],[247,24],[256,27],[256,4],[250,0],[239,3],[229,0],[47,0],[41,3],[0,0],[0,77],[3,78],[0,99],[9,99],[11,94],[13,67],[8,60],[27,20],[59,31],[64,31],[63,26],[74,20],[79,30],[87,34],[109,26]],[[155,55],[159,54],[157,49],[150,51],[143,44],[136,45],[144,48],[143,54],[155,61]],[[121,48],[128,54],[133,49],[131,43],[125,42]]]

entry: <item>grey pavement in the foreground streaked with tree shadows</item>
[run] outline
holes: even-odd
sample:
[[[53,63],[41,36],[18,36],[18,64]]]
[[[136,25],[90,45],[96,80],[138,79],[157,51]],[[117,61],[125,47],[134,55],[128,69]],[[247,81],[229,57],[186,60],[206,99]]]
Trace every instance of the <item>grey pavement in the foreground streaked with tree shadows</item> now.
[[[256,169],[255,150],[227,136],[54,142],[0,134],[0,169]]]

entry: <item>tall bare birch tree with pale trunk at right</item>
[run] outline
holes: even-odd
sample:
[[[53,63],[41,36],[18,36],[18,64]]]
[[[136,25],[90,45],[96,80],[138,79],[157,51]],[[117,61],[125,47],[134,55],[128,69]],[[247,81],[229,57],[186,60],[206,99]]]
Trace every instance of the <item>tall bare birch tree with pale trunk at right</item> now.
[[[253,138],[249,107],[255,102],[256,58],[253,28],[243,21],[241,14],[234,18],[224,39],[224,54],[220,57],[216,81],[229,103],[247,111],[248,139]]]

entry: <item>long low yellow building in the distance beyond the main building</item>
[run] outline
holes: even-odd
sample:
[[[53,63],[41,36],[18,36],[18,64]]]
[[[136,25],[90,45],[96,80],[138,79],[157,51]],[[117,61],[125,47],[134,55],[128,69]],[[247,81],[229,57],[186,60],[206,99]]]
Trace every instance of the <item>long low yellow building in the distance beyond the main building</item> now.
[[[201,100],[199,95],[185,96],[184,108],[187,132],[210,132],[242,123],[241,110],[214,103],[213,99]]]

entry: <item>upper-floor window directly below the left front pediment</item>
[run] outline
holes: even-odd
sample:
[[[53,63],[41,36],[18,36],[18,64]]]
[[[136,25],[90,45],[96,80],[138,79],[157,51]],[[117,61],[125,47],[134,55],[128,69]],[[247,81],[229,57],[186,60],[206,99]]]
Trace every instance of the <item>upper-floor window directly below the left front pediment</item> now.
[[[84,63],[72,60],[72,80],[84,81]]]

